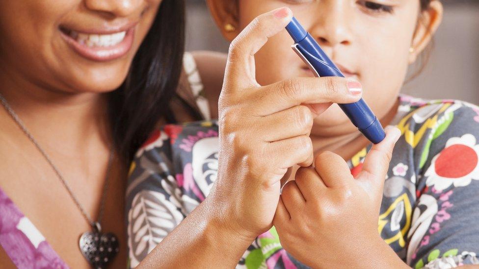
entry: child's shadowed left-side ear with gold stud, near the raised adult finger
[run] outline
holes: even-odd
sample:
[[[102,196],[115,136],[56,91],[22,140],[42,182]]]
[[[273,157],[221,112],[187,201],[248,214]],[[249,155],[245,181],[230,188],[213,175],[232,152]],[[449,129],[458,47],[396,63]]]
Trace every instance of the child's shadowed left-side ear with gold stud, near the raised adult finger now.
[[[223,37],[233,41],[239,34],[238,0],[206,0],[211,15]]]

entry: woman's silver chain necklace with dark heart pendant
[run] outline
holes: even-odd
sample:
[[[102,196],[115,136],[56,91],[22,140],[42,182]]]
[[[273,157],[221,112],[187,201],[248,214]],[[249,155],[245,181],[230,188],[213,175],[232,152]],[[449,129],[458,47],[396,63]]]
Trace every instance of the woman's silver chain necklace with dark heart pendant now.
[[[63,178],[62,174],[56,166],[53,164],[52,159],[49,157],[47,152],[43,150],[42,147],[38,144],[38,142],[33,138],[32,134],[28,131],[25,124],[20,120],[18,115],[15,111],[10,107],[7,100],[0,94],[0,103],[3,105],[7,113],[11,116],[11,118],[17,123],[17,125],[22,129],[28,139],[33,143],[33,145],[40,151],[43,155],[45,160],[48,164],[52,167],[55,174],[60,179],[61,184],[65,187],[70,197],[72,197],[73,201],[77,205],[78,209],[80,210],[81,215],[83,218],[92,226],[91,232],[85,232],[81,234],[79,240],[80,251],[86,260],[97,269],[101,269],[106,267],[106,265],[113,260],[113,258],[119,252],[119,242],[118,238],[112,233],[102,233],[102,226],[100,223],[102,222],[103,214],[105,211],[105,200],[106,200],[106,192],[108,190],[108,178],[111,170],[111,164],[113,162],[113,148],[110,150],[110,155],[108,159],[108,165],[106,168],[106,178],[105,184],[103,186],[103,193],[100,202],[100,212],[98,214],[98,220],[93,221],[86,211],[81,206],[80,202],[78,201],[77,197],[73,194],[72,189]]]

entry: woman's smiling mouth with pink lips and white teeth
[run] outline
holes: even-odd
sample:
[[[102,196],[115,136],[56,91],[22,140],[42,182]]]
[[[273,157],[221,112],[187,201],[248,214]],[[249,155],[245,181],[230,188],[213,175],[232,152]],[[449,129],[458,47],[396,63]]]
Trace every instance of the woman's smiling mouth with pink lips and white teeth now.
[[[122,57],[132,48],[134,26],[124,29],[73,30],[60,27],[61,36],[80,56],[93,61],[110,61]]]

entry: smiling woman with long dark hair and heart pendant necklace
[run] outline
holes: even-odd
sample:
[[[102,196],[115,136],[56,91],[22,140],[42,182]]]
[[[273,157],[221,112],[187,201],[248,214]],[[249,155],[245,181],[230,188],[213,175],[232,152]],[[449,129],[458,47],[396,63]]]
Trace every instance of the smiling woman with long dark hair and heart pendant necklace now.
[[[1,4],[2,267],[125,267],[127,164],[172,118],[183,48],[183,0]]]

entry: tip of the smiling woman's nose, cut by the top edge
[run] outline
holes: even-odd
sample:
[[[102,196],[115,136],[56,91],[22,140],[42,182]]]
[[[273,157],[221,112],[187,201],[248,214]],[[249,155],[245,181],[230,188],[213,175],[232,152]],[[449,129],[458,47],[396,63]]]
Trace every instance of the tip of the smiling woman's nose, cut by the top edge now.
[[[142,2],[143,0],[85,0],[85,6],[115,17],[127,17],[138,10]]]

